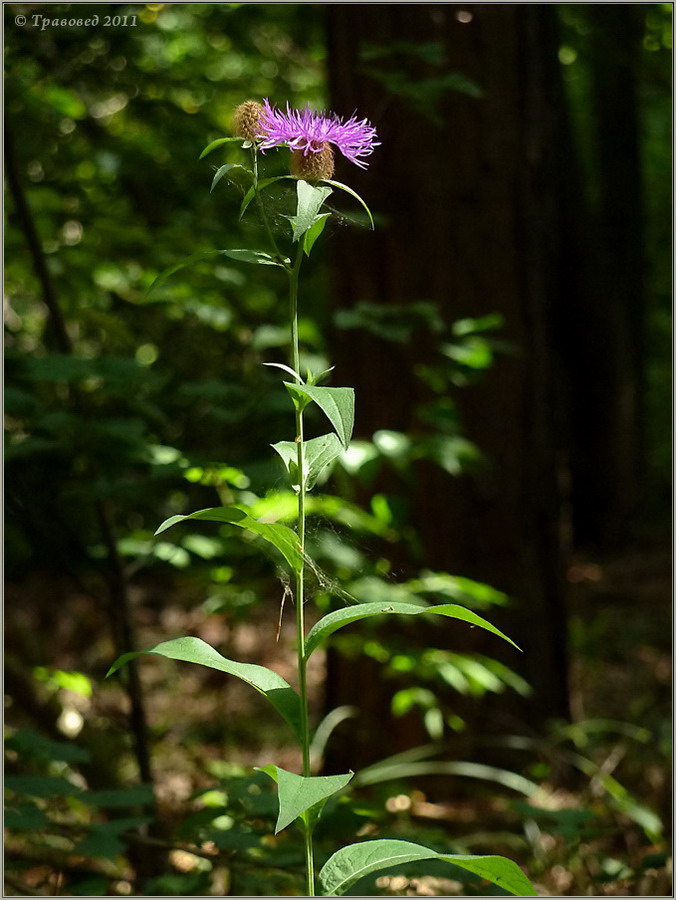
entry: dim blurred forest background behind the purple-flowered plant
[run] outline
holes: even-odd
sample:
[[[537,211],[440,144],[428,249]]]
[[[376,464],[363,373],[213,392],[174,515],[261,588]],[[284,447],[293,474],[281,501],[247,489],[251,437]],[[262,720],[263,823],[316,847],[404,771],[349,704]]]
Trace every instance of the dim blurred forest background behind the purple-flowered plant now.
[[[370,774],[327,846],[369,822],[503,852],[543,893],[670,892],[671,12],[4,6],[8,895],[299,892],[251,772],[297,760],[256,700],[158,660],[104,682],[184,633],[292,665],[274,559],[227,527],[152,537],[219,502],[284,515],[276,273],[211,258],[148,295],[262,240],[235,181],[209,191],[241,151],[198,157],[263,97],[381,140],[336,176],[376,231],[341,202],[301,300],[306,360],[357,395],[309,608],[452,598],[524,650],[336,637],[318,759]],[[430,866],[355,890],[485,886]]]

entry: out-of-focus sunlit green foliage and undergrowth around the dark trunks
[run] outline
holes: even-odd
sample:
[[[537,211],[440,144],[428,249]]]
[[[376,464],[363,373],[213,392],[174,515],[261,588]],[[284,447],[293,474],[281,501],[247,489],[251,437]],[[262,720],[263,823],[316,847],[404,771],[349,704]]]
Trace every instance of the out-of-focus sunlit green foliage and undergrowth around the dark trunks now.
[[[135,17],[136,24],[41,30],[31,23],[37,10],[50,19],[96,15],[101,23],[110,15]],[[662,252],[671,241],[670,198],[662,190],[670,167],[670,11],[669,4],[647,5],[641,69],[646,246],[652,248],[649,446],[662,479],[670,458],[668,440],[659,432],[671,390],[670,272]],[[26,26],[15,24],[18,15],[27,17]],[[261,365],[285,359],[279,274],[218,257],[177,271],[153,294],[147,292],[163,270],[197,249],[232,248],[243,240],[245,246],[263,246],[255,215],[241,226],[243,237],[234,222],[232,210],[242,194],[236,181],[223,179],[209,193],[213,171],[221,162],[240,160],[241,151],[226,147],[213,161],[201,162],[199,152],[229,133],[232,110],[244,99],[325,104],[323,15],[315,4],[4,7],[6,127],[74,347],[67,355],[55,342],[8,192],[6,566],[11,582],[29,586],[8,627],[10,655],[25,670],[17,681],[23,693],[17,688],[8,710],[6,741],[7,887],[13,892],[300,890],[300,841],[292,830],[271,837],[272,788],[265,776],[249,774],[251,759],[239,749],[260,751],[260,723],[253,715],[233,716],[224,735],[222,701],[209,700],[220,682],[216,691],[206,676],[181,679],[194,698],[186,703],[178,679],[152,667],[147,684],[167,862],[162,874],[142,884],[135,880],[134,851],[149,852],[158,839],[147,829],[147,788],[129,787],[135,769],[121,691],[99,686],[90,696],[111,657],[100,600],[106,550],[93,503],[103,500],[114,512],[118,550],[143,598],[138,615],[144,641],[207,622],[225,628],[223,617],[214,615],[222,613],[233,629],[219,632],[224,641],[236,642],[240,632],[259,643],[259,632],[274,636],[269,609],[283,592],[275,560],[261,563],[255,546],[235,539],[233,528],[195,525],[176,529],[170,538],[152,535],[164,517],[219,501],[246,503],[280,521],[291,515],[293,494],[269,443],[288,437],[292,413],[278,375]],[[584,149],[584,7],[561,7],[561,20],[560,58]],[[423,86],[422,100],[431,116],[446,91],[480,94],[461,73],[446,70],[436,44],[367,48],[365,58],[373,77],[387,77],[393,90],[414,103],[423,88],[405,73],[424,64],[432,81]],[[392,80],[390,67],[399,71],[398,79]],[[591,148],[585,153],[593,168]],[[262,159],[264,174],[278,174],[280,156]],[[277,222],[283,190],[270,191]],[[358,217],[341,217],[341,226],[355,223]],[[322,335],[332,324],[319,246],[308,272],[300,329],[305,361],[319,370],[326,364]],[[331,596],[392,600],[401,591],[479,611],[504,605],[507,598],[486,585],[423,568],[423,548],[398,487],[418,459],[432,460],[454,476],[482,464],[449,398],[481,378],[496,354],[512,352],[501,342],[500,320],[444,322],[438,310],[419,301],[387,310],[361,304],[339,311],[334,324],[366,328],[395,344],[423,338],[434,348],[435,362],[416,371],[428,401],[416,410],[411,433],[382,430],[369,441],[353,442],[310,499],[317,605],[328,609]],[[374,493],[383,476],[390,487]],[[367,508],[357,503],[364,496]],[[399,573],[391,559],[401,545],[420,570],[395,584]],[[47,573],[45,581],[30,587],[40,573]],[[59,602],[55,584],[63,578],[72,578],[78,593],[67,603]],[[348,658],[360,653],[381,663],[392,689],[392,713],[419,716],[430,738],[440,742],[437,767],[448,765],[443,739],[464,729],[456,699],[495,698],[505,690],[526,695],[528,685],[499,660],[443,645],[416,647],[409,637],[403,630],[386,639],[365,627],[359,635],[336,636],[333,646]],[[646,647],[653,637],[645,636]],[[590,623],[579,615],[573,638],[576,652],[588,660],[589,683],[600,683],[615,662],[604,657],[618,638],[612,617],[600,614]],[[231,696],[241,702],[236,692]],[[525,768],[523,758],[509,772],[456,768],[456,804],[428,800],[423,788],[411,787],[405,767],[390,769],[389,781],[373,776],[352,802],[341,798],[333,804],[321,824],[319,856],[366,833],[418,836],[445,851],[527,855],[536,879],[554,893],[616,893],[630,882],[646,893],[666,890],[668,863],[650,818],[655,814],[623,787],[638,784],[641,796],[658,792],[659,772],[649,773],[650,767],[666,767],[670,754],[666,714],[663,706],[651,706],[647,687],[631,709],[613,716],[624,712],[627,727],[638,728],[647,717],[649,738],[631,730],[618,736],[612,729],[609,736],[608,730],[583,725],[578,732],[560,730],[549,743],[512,747],[526,755]],[[600,718],[599,713],[592,721]],[[264,749],[272,753],[281,738],[267,724]],[[650,755],[656,734],[657,762]],[[613,752],[622,769],[617,779],[608,771]],[[241,765],[223,762],[223,755]],[[434,760],[425,762],[433,775]],[[528,779],[542,782],[541,793],[515,802],[509,791],[528,781],[519,774],[526,769]],[[464,778],[471,802],[463,794]],[[388,874],[354,889],[430,891],[485,895],[485,886],[471,879],[450,882],[430,865],[429,872]]]

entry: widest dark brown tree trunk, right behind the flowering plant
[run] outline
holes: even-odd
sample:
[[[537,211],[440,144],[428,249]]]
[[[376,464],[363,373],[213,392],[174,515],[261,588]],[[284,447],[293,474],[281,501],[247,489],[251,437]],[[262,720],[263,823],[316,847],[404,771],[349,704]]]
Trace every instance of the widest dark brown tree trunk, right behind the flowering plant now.
[[[425,565],[514,598],[506,627],[524,656],[506,661],[535,690],[520,715],[533,725],[566,717],[559,319],[574,270],[566,254],[575,249],[566,237],[573,170],[555,11],[538,4],[333,4],[329,24],[333,108],[357,108],[382,140],[368,172],[351,171],[349,181],[385,220],[373,236],[341,237],[339,259],[349,265],[336,267],[336,303],[433,300],[448,322],[499,312],[513,348],[454,398],[487,468],[462,478],[431,464],[415,472],[409,500]],[[415,45],[422,52],[411,52]],[[397,46],[408,55],[372,52]],[[369,75],[388,64],[403,94],[388,90],[386,76]],[[474,82],[482,96],[447,90],[426,104],[429,79],[448,73]],[[421,348],[409,346],[397,358],[391,345],[349,331],[336,333],[334,351],[341,383],[357,390],[359,433],[406,430],[421,399],[411,365]],[[454,630],[453,640],[464,637]],[[371,682],[371,699],[377,689]],[[328,705],[359,706],[362,694],[354,664],[332,655]],[[371,741],[377,746],[369,756],[387,755],[398,743],[385,728],[373,729]],[[349,749],[346,761],[359,764],[360,748],[351,742]]]

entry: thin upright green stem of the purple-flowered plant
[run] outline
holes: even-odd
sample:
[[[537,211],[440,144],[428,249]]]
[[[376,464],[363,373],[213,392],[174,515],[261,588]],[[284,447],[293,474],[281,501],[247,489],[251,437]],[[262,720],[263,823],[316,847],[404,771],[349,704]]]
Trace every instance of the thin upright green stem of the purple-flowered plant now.
[[[303,261],[305,236],[298,243],[298,253],[293,268],[289,270],[289,304],[291,316],[291,368],[298,373],[300,384],[300,347],[298,341],[298,274]],[[305,553],[305,453],[303,447],[303,411],[296,407],[296,446],[298,466],[298,543],[301,554]],[[305,563],[296,573],[296,652],[298,654],[298,685],[301,708],[301,745],[303,750],[303,776],[309,778],[310,770],[310,727],[308,721],[307,672],[305,659],[305,617],[303,604],[305,588]],[[309,819],[305,820],[303,834],[305,838],[305,870],[307,876],[307,895],[315,896],[314,859],[312,847],[312,827]]]

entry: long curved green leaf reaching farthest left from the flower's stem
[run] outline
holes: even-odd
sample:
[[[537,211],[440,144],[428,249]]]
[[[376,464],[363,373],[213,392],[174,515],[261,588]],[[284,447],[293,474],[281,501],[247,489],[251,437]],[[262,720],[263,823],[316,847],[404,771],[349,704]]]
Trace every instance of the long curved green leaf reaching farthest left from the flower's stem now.
[[[124,653],[115,660],[108,670],[106,678],[112,675],[113,672],[117,672],[129,660],[136,659],[144,653],[152,656],[163,656],[166,659],[177,659],[181,662],[197,663],[197,665],[207,666],[210,669],[218,669],[219,672],[225,672],[227,675],[234,675],[235,678],[245,681],[267,697],[277,712],[292,727],[296,736],[300,736],[300,698],[281,675],[267,669],[265,666],[256,666],[252,663],[238,663],[232,659],[226,659],[205,641],[200,640],[200,638],[175,638],[173,641],[164,641],[150,650]]]

